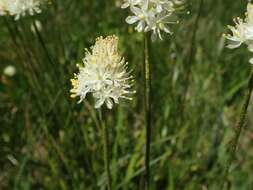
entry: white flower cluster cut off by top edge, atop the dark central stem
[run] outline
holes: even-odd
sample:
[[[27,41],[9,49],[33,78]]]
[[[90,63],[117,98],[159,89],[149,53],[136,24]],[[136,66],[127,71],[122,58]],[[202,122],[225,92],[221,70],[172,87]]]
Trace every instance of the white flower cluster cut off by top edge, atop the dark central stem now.
[[[172,34],[169,25],[175,24],[173,19],[176,0],[125,0],[121,8],[130,8],[133,16],[128,16],[126,22],[135,24],[138,32],[152,31],[151,39],[155,41],[157,36],[162,40],[161,31]]]

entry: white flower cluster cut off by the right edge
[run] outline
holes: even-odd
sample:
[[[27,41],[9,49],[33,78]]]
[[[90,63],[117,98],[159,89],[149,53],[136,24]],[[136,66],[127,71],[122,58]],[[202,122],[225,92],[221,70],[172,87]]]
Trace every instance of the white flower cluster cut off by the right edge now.
[[[246,18],[234,19],[235,26],[228,26],[232,34],[227,34],[225,37],[229,40],[228,48],[238,48],[245,43],[250,52],[253,52],[253,4],[248,3]],[[253,64],[253,58],[249,61]]]

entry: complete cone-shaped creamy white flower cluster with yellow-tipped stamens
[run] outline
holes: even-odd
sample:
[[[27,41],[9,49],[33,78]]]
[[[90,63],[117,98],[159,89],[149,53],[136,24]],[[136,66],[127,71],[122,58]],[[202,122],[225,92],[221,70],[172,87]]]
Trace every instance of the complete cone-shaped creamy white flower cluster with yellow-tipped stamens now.
[[[83,65],[78,65],[79,73],[71,79],[73,89],[71,97],[80,97],[81,102],[92,93],[95,108],[104,103],[112,109],[113,103],[119,103],[120,98],[131,99],[132,76],[127,72],[127,63],[118,52],[118,38],[99,37],[91,50],[86,50]]]

